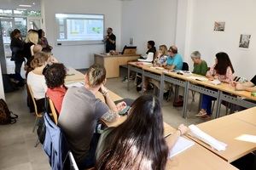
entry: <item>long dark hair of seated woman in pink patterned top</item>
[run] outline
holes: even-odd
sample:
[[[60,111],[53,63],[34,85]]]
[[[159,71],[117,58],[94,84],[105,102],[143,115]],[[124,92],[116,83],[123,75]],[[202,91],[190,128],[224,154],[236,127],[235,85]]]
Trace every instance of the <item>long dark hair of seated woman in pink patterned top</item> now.
[[[220,52],[216,54],[216,58],[218,59],[218,63],[217,65],[215,65],[214,69],[217,71],[219,75],[225,75],[227,72],[227,68],[229,66],[231,68],[232,73],[235,72],[228,54]]]

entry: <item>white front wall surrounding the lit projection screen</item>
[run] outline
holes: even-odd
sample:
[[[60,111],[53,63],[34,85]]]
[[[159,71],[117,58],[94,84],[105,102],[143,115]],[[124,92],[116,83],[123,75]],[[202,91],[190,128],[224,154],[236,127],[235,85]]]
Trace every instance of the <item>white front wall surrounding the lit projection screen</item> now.
[[[93,54],[105,51],[103,44],[56,46],[55,14],[105,14],[105,27],[112,27],[117,37],[117,49],[121,40],[121,1],[119,0],[43,0],[44,19],[48,41],[53,45],[53,53],[67,66],[76,69],[88,68],[94,63]]]

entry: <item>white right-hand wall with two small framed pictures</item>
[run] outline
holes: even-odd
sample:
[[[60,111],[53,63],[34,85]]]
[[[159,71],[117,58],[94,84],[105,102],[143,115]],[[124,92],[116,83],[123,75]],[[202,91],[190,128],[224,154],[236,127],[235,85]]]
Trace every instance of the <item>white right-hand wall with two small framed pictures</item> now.
[[[190,52],[199,50],[209,65],[224,51],[240,77],[256,73],[256,1],[193,0]],[[213,31],[214,21],[225,21],[225,31]],[[241,33],[251,34],[249,49],[238,48]]]

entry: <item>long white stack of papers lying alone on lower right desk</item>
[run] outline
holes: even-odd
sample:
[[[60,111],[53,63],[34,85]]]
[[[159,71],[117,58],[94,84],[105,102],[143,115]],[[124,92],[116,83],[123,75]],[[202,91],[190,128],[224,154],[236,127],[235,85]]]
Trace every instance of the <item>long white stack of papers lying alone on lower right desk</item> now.
[[[189,129],[194,137],[196,137],[197,139],[201,139],[201,141],[205,142],[206,144],[209,144],[215,150],[226,150],[228,144],[224,144],[223,142],[214,139],[209,134],[201,131],[201,129],[196,127],[195,125],[190,125]]]

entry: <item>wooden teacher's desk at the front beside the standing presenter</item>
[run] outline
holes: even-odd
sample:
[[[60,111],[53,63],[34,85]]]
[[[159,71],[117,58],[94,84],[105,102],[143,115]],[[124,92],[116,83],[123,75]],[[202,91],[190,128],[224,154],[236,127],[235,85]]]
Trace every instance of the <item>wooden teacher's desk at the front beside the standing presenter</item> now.
[[[136,60],[139,58],[139,54],[136,55],[106,55],[95,54],[94,62],[99,65],[104,65],[107,71],[107,78],[119,77],[119,66],[127,65],[128,61]]]

